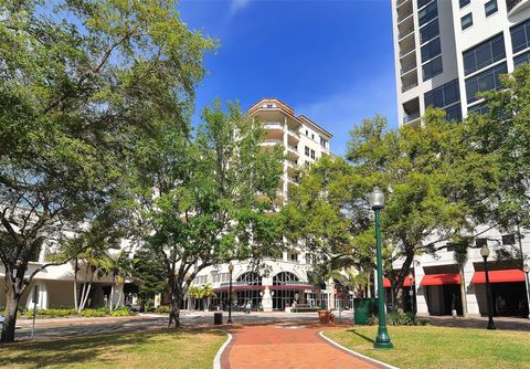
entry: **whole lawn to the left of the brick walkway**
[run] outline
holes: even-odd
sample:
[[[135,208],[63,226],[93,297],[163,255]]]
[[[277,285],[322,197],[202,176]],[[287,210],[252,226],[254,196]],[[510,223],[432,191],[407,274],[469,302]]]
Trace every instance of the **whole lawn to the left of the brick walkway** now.
[[[163,331],[0,346],[1,368],[212,368],[219,330]]]

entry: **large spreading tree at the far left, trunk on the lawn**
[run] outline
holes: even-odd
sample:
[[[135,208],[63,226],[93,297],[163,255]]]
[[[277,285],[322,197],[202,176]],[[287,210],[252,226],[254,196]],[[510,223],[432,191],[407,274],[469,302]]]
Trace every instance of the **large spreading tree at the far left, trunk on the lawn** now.
[[[126,182],[137,137],[180,116],[214,43],[173,1],[0,3],[2,341],[14,339],[26,275],[44,242],[60,250]]]

